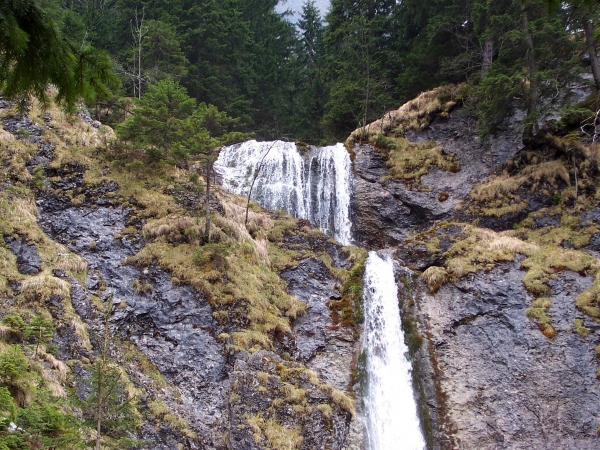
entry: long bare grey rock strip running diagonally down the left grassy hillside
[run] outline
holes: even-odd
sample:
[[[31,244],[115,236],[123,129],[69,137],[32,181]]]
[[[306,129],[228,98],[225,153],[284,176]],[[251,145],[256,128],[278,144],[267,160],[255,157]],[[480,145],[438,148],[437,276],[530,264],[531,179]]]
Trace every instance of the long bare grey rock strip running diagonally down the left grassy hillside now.
[[[123,264],[143,245],[136,235],[115,238],[126,226],[127,208],[76,208],[47,197],[38,205],[42,228],[89,262],[88,288],[115,307],[112,330],[136,344],[179,387],[181,406],[175,409],[198,430],[202,448],[222,448],[225,360],[206,299],[190,287],[173,286],[158,267]],[[148,286],[147,292],[137,293],[135,280]],[[86,317],[89,305],[78,289],[73,287],[73,306]]]

